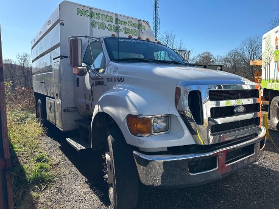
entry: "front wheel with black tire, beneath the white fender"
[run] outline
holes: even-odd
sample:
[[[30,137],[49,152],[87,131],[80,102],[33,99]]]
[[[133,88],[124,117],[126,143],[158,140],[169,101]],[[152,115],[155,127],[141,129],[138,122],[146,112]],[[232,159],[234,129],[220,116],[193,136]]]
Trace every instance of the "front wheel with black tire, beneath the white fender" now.
[[[109,197],[115,209],[134,208],[137,204],[138,174],[131,146],[117,124],[107,128],[104,180],[108,183]]]

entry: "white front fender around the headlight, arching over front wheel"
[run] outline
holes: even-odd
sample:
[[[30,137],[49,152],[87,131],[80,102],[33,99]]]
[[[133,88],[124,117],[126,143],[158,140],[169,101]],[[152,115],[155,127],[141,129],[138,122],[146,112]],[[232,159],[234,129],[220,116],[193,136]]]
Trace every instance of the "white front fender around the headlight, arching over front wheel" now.
[[[175,95],[175,92],[173,92]],[[142,148],[162,148],[193,144],[193,138],[183,123],[175,107],[175,98],[167,99],[168,95],[143,86],[132,84],[118,84],[104,93],[96,105],[92,123],[97,113],[110,115],[119,125],[126,142]],[[130,133],[127,115],[170,115],[171,131],[167,134],[147,137],[134,136]]]

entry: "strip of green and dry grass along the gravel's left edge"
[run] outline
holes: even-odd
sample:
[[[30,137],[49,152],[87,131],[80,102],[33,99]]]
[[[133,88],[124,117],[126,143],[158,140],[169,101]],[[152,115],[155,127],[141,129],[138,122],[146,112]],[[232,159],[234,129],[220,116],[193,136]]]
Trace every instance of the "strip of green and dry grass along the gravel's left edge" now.
[[[41,150],[40,138],[45,129],[38,124],[34,103],[33,91],[29,88],[16,88],[6,94],[14,204],[17,208],[32,208],[40,192],[55,180],[51,160]]]

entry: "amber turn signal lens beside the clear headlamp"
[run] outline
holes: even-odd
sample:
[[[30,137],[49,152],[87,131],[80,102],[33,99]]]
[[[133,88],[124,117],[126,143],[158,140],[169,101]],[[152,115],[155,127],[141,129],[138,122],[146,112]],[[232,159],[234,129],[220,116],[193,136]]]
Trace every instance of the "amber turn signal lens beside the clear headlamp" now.
[[[128,116],[128,126],[133,135],[151,134],[151,119]]]

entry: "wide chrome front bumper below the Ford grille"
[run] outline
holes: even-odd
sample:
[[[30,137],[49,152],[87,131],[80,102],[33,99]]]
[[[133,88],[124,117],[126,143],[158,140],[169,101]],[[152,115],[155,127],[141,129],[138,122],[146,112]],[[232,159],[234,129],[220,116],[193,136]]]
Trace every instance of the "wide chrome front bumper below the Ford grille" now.
[[[260,134],[251,140],[206,153],[146,155],[134,151],[133,155],[138,175],[145,185],[166,188],[196,186],[230,175],[260,159],[265,146],[265,135],[266,130],[262,127]],[[241,150],[250,151],[241,155],[239,152]],[[232,160],[229,159],[228,156],[234,152],[239,152],[239,156]],[[210,159],[211,161],[216,159],[216,166],[207,170],[203,169],[201,172],[190,171],[192,169],[189,169],[189,163],[197,162],[197,164],[202,164]]]

